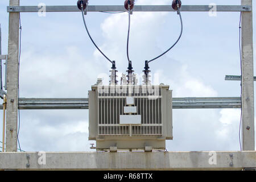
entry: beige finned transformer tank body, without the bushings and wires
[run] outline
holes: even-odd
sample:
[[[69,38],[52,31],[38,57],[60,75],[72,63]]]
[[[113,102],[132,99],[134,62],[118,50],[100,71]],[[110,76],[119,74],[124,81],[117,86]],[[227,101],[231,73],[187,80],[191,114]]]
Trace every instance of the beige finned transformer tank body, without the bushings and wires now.
[[[172,139],[172,90],[168,85],[98,81],[89,91],[89,140],[97,151],[163,150]]]

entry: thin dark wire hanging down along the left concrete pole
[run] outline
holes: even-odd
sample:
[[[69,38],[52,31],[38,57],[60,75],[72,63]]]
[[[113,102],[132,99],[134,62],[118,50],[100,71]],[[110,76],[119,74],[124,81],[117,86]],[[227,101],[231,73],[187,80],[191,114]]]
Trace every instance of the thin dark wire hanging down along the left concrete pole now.
[[[19,110],[19,68],[20,68],[20,55],[21,55],[21,40],[22,40],[22,26],[20,22],[20,14],[19,14],[19,60],[18,60],[18,115],[19,115],[19,126],[18,126],[18,134],[17,134],[17,139],[18,139],[18,144],[19,144],[19,150],[20,148],[20,143],[19,143],[19,129],[20,129],[20,110]]]

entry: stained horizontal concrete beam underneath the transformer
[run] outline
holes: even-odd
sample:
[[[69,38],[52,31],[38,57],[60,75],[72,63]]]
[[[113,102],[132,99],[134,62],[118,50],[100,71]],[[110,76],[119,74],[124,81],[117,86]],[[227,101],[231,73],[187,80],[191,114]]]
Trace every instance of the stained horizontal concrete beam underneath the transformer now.
[[[43,164],[44,156],[45,164]],[[255,151],[46,152],[45,155],[42,152],[0,153],[0,169],[242,170],[243,168],[256,168]]]

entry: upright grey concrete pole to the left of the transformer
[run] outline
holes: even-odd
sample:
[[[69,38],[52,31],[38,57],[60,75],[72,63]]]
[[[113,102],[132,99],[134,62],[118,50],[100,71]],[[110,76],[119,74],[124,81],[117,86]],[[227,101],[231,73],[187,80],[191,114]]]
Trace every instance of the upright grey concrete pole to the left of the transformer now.
[[[10,0],[10,6],[19,6],[19,0]],[[7,60],[6,152],[17,151],[18,123],[18,59],[19,13],[9,13],[9,43]]]

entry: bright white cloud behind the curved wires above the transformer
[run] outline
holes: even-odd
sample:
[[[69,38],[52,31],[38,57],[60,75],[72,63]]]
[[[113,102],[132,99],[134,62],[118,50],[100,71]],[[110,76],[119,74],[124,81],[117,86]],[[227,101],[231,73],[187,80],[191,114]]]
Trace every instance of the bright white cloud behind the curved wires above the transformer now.
[[[131,15],[129,52],[134,68],[141,67],[142,69],[145,59],[161,52],[155,49],[154,45],[157,44],[159,30],[162,28],[165,22],[164,17],[167,14],[168,13],[134,12],[133,15]],[[110,59],[117,62],[118,68],[122,69],[122,72],[127,68],[127,30],[127,13],[110,15],[101,23],[104,43],[99,46]],[[105,59],[97,49],[94,51],[94,56],[96,59],[101,59],[102,61]]]

